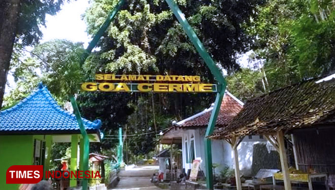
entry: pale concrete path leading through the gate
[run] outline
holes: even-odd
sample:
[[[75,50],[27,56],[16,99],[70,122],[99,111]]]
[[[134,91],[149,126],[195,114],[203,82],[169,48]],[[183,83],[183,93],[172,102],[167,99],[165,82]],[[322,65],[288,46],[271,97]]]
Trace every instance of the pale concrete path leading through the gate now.
[[[150,182],[158,166],[128,166],[119,173],[120,182],[114,189],[123,190],[161,190]]]

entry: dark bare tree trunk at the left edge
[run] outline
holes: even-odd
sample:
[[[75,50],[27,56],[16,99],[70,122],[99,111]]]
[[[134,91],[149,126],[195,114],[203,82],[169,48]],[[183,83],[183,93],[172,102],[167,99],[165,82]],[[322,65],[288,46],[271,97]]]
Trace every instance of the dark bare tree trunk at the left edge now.
[[[12,57],[17,22],[20,10],[20,0],[5,0],[0,3],[0,108],[5,93],[7,73]]]

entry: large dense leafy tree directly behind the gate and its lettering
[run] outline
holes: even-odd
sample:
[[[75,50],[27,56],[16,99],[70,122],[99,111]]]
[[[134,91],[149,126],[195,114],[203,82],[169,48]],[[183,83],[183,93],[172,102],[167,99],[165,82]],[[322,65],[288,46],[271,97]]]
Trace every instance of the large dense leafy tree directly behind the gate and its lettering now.
[[[85,14],[90,34],[97,31],[117,2],[117,0],[92,1],[91,7]],[[261,1],[176,1],[217,65],[228,72],[239,69],[236,55],[245,52],[249,47],[251,39],[245,34],[241,24],[253,17],[253,10],[259,2]],[[98,47],[99,51],[90,56],[84,65],[87,79],[92,79],[95,72],[113,72],[200,75],[203,82],[215,82],[165,1],[127,1],[99,41]],[[87,99],[89,96],[91,97]],[[87,113],[83,112],[84,116],[85,114],[92,116],[87,101],[93,100],[92,103],[95,103],[95,97],[98,96],[95,93],[79,94],[79,100],[86,100],[86,103],[83,101],[80,104],[82,110],[87,110]],[[111,101],[118,101],[117,96],[121,95],[115,94],[109,97]],[[214,96],[209,94],[133,96],[136,98],[118,101],[117,104],[123,102],[133,107],[134,112],[125,120],[127,119],[128,131],[135,135],[131,136],[131,141],[128,143],[134,154],[146,154],[153,149],[155,143],[151,137],[155,136],[156,128],[159,131],[163,127],[168,127],[171,120],[180,120],[193,115],[194,112],[209,107],[214,101]],[[104,106],[105,104],[100,108],[111,110],[109,104]],[[99,114],[94,113],[93,118],[100,116]],[[114,116],[113,113],[104,114]],[[110,125],[106,128],[115,130],[118,126]],[[145,135],[137,135],[143,133]],[[116,134],[110,133],[110,135]]]

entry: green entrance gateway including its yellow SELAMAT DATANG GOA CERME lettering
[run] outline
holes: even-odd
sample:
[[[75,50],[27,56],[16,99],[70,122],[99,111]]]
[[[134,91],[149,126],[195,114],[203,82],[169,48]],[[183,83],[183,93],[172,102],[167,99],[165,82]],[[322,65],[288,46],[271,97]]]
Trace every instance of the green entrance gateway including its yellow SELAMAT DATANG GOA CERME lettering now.
[[[121,7],[124,5],[125,2],[126,2],[126,0],[119,0],[117,5],[115,6],[115,8],[108,15],[104,24],[97,31],[97,33],[94,35],[93,40],[88,45],[85,53],[80,57],[81,66],[83,65],[86,58],[89,56],[89,54],[91,53],[91,51],[93,50],[93,48],[95,47],[97,42],[101,39],[101,36],[105,33],[106,29],[109,27],[111,22],[114,20],[114,17],[120,11]],[[84,84],[82,84],[82,89],[85,90],[85,88],[86,88],[86,90],[88,89],[88,91],[96,91],[96,90],[101,90],[101,91],[105,90],[106,91],[106,89],[108,89],[109,92],[118,92],[120,90],[126,92],[126,90],[128,90],[128,89],[129,89],[129,92],[159,92],[159,93],[162,93],[162,92],[165,92],[165,93],[166,92],[178,92],[178,91],[186,92],[186,93],[216,92],[217,95],[216,95],[216,99],[215,99],[215,102],[214,102],[214,107],[213,107],[213,110],[212,110],[212,113],[211,113],[211,118],[210,118],[210,121],[208,123],[208,127],[207,127],[206,134],[205,134],[205,139],[204,139],[205,140],[205,164],[206,164],[207,189],[214,189],[213,188],[213,169],[212,169],[212,147],[211,147],[211,140],[209,138],[207,138],[207,136],[210,136],[210,135],[213,134],[214,127],[215,127],[215,124],[216,124],[216,119],[217,119],[218,114],[219,114],[220,105],[221,105],[221,102],[222,102],[222,98],[224,96],[224,92],[225,92],[227,83],[226,83],[226,80],[224,79],[224,77],[221,73],[221,70],[217,67],[216,63],[213,61],[212,57],[208,54],[208,52],[206,51],[202,42],[200,42],[200,40],[198,39],[197,35],[195,34],[195,32],[192,29],[192,27],[190,26],[190,24],[187,22],[187,20],[185,18],[185,15],[181,12],[178,5],[174,2],[174,0],[165,0],[165,2],[168,3],[171,11],[174,13],[177,20],[179,21],[179,23],[183,27],[185,33],[187,34],[187,36],[191,40],[192,44],[194,45],[196,51],[199,53],[200,57],[202,57],[204,59],[206,65],[210,69],[211,73],[214,75],[218,84],[212,85],[211,86],[212,90],[210,90],[210,85],[211,84],[206,85],[206,84],[200,84],[199,82],[193,83],[193,81],[191,83],[188,83],[189,81],[187,81],[187,83],[185,83],[186,78],[184,77],[183,78],[184,83],[181,84],[180,82],[179,83],[176,82],[174,85],[172,85],[171,83],[167,83],[167,82],[166,83],[161,83],[161,81],[158,82],[157,79],[159,77],[157,75],[155,83],[146,83],[146,85],[141,83],[142,84],[141,86],[143,87],[143,90],[144,90],[144,91],[141,91],[141,89],[139,89],[139,86],[138,86],[140,83],[139,84],[131,84],[131,83],[127,84],[127,83],[120,83],[120,81],[118,81],[119,83],[113,84],[113,83],[110,83],[111,81],[108,82],[108,80],[105,79],[105,77],[111,77],[111,79],[112,79],[113,74],[110,74],[110,75],[106,74],[106,75],[103,76],[104,77],[103,79],[105,80],[103,82],[105,84],[102,84],[102,83],[85,84],[84,83]],[[166,76],[168,76],[168,75],[166,75]],[[99,77],[101,77],[101,75]],[[114,77],[116,77],[116,75]],[[122,75],[121,75],[121,77],[122,77]],[[143,77],[145,77],[145,75],[143,75]],[[118,78],[118,79],[121,80],[121,78]],[[166,77],[166,79],[168,79],[168,77]],[[169,79],[171,79],[171,75],[169,76]],[[177,79],[178,80],[178,78],[172,78],[172,79]],[[100,79],[100,80],[102,80],[102,79]],[[96,81],[99,81],[99,80],[96,79]],[[115,80],[115,81],[117,81],[117,80]],[[129,81],[131,81],[131,80],[129,80],[129,78],[127,78],[127,80],[123,80],[122,82],[129,82]],[[169,82],[171,82],[171,81],[169,81]],[[174,82],[174,81],[172,81],[172,82]],[[188,85],[186,85],[186,84],[188,84]],[[133,85],[135,85],[135,86],[133,86]],[[83,88],[83,86],[84,86],[84,88]],[[141,88],[141,86],[140,86],[140,88]],[[134,87],[134,89],[132,87]],[[192,90],[192,87],[194,87],[194,90]],[[197,91],[195,91],[196,87],[197,87]],[[189,88],[191,90],[188,90]],[[111,89],[113,89],[113,90],[111,90]],[[116,91],[116,89],[118,91]],[[187,89],[187,90],[185,91],[184,89]],[[88,153],[89,153],[88,135],[87,135],[87,132],[84,128],[84,125],[83,125],[83,122],[82,122],[80,112],[79,112],[77,103],[75,101],[74,95],[70,95],[70,100],[71,100],[72,106],[74,108],[74,113],[76,115],[78,124],[80,126],[81,134],[83,135],[83,139],[84,139],[84,163],[83,163],[83,167],[84,167],[84,170],[87,170],[88,169]],[[83,185],[83,189],[87,189],[88,181],[84,180],[82,185]],[[241,185],[238,185],[237,189],[241,190],[242,189]]]

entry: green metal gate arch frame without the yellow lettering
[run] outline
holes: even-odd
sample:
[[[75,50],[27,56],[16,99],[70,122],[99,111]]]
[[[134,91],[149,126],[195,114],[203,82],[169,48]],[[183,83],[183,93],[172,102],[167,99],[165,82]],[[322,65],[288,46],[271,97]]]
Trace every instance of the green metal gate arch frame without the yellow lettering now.
[[[115,15],[120,11],[122,5],[125,3],[126,0],[119,0],[117,5],[114,7],[114,9],[110,12],[108,15],[108,18],[104,22],[104,24],[101,26],[101,28],[97,31],[97,33],[94,35],[92,41],[88,45],[85,53],[81,56],[81,65],[85,62],[86,58],[89,56],[101,36],[105,33],[106,29],[109,27],[111,22],[113,21]],[[226,80],[224,79],[220,69],[216,66],[215,62],[213,61],[212,57],[208,54],[205,47],[203,46],[202,42],[200,42],[199,38],[195,34],[194,30],[190,26],[190,24],[187,22],[184,14],[179,9],[178,5],[173,0],[165,0],[166,3],[168,3],[170,9],[176,16],[177,20],[183,27],[185,33],[191,40],[192,44],[194,45],[196,51],[199,53],[199,55],[204,59],[206,65],[210,69],[211,73],[214,75],[216,81],[218,82],[218,93],[216,95],[216,99],[214,102],[213,111],[211,114],[211,118],[206,130],[205,135],[205,163],[206,163],[206,183],[208,189],[214,189],[213,188],[213,169],[212,169],[212,143],[211,140],[206,138],[207,136],[210,136],[213,131],[216,124],[216,119],[218,117],[218,113],[220,110],[220,105],[222,102],[222,98],[226,89]],[[74,108],[74,112],[78,121],[78,124],[80,126],[81,134],[83,135],[84,140],[84,159],[83,159],[83,169],[88,170],[88,154],[89,154],[89,140],[87,133],[85,131],[85,128],[83,126],[83,123],[81,121],[80,112],[77,106],[77,103],[75,101],[75,98],[73,95],[70,96],[71,103]],[[88,187],[88,181],[83,181],[83,189],[87,189]]]

